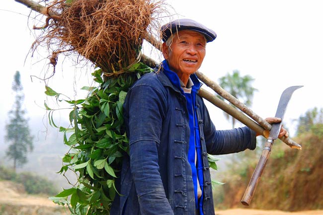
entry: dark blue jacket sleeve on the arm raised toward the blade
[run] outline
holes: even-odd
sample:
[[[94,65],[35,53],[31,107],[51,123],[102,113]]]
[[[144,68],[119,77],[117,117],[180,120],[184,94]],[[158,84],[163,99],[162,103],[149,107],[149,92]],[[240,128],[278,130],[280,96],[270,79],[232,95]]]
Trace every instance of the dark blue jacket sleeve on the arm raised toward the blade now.
[[[203,132],[208,153],[218,155],[235,153],[247,148],[255,149],[256,136],[254,131],[248,127],[218,131],[212,123],[204,103],[202,105],[202,113],[204,122]]]

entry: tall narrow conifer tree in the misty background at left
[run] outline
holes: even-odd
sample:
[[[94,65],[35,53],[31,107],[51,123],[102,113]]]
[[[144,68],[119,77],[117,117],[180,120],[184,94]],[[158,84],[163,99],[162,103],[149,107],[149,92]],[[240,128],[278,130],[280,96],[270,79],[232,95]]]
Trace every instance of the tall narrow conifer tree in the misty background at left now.
[[[28,120],[25,119],[22,107],[24,94],[18,71],[14,74],[12,90],[15,93],[15,101],[8,113],[9,123],[5,126],[4,138],[9,143],[6,155],[13,160],[15,171],[17,166],[27,162],[27,153],[33,149],[33,137],[30,135]]]

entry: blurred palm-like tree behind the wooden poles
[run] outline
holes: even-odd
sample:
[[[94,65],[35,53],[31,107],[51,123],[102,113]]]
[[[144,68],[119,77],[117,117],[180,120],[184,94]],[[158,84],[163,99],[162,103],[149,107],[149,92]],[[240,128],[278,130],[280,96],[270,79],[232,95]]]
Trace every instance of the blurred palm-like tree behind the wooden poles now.
[[[253,80],[254,78],[250,75],[240,76],[240,72],[234,70],[232,74],[227,73],[225,76],[219,78],[219,85],[249,107],[252,104],[253,93],[257,90],[251,86]],[[220,96],[219,98],[224,100]],[[236,108],[234,105],[232,106]],[[232,128],[234,128],[237,122],[236,119],[227,113],[224,114],[228,120],[232,120]]]

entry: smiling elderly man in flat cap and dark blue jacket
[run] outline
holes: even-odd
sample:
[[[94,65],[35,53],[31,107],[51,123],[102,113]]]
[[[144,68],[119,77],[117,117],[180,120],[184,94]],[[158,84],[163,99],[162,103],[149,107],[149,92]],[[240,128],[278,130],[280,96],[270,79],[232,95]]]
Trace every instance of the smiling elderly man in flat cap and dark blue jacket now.
[[[207,153],[254,149],[256,134],[247,127],[216,130],[197,94],[194,72],[215,32],[179,19],[161,33],[165,60],[131,87],[124,103],[130,151],[110,215],[214,215]]]

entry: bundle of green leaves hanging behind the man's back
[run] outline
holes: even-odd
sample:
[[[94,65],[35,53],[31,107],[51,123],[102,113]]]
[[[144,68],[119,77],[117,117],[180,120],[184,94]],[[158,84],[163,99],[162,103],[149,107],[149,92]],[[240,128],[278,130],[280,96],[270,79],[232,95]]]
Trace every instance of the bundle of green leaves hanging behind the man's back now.
[[[55,203],[67,205],[72,214],[106,215],[118,191],[115,179],[119,175],[122,157],[128,153],[128,139],[123,123],[123,103],[130,86],[143,74],[152,70],[142,64],[133,65],[128,72],[117,77],[102,78],[102,70],[92,75],[98,87],[83,87],[89,95],[85,99],[64,99],[61,93],[49,86],[45,93],[55,96],[58,102],[71,104],[69,128],[60,127],[64,144],[70,150],[63,157],[59,173],[74,171],[78,181],[72,188],[63,190],[55,197]],[[49,121],[55,110],[48,107]],[[68,198],[69,197],[69,198]]]

